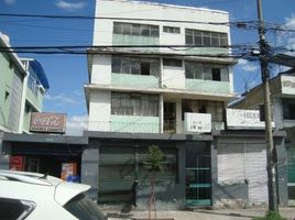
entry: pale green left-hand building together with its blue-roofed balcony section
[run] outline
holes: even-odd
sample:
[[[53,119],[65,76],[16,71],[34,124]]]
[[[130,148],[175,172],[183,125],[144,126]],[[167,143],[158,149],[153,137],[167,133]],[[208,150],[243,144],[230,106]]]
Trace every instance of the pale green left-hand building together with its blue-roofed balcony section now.
[[[11,47],[9,36],[0,34],[2,47]],[[41,64],[20,58],[11,50],[0,57],[0,130],[29,133],[31,112],[41,112],[45,91],[50,88]]]

